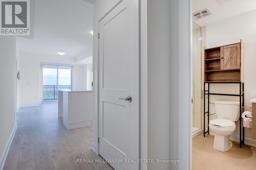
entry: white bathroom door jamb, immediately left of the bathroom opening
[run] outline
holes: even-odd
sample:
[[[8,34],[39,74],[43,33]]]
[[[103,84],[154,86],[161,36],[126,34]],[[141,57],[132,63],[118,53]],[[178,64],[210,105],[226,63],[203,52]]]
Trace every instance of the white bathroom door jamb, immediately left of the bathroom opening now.
[[[191,3],[190,0],[178,1],[178,83],[179,83],[179,124],[178,155],[182,163],[178,169],[191,169]]]

